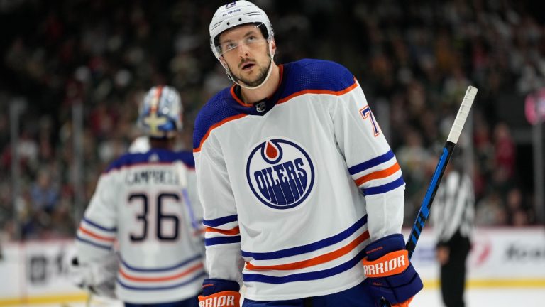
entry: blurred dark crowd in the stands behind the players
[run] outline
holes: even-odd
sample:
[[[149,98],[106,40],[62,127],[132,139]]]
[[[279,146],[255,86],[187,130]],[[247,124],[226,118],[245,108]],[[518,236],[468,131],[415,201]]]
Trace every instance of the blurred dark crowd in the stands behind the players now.
[[[277,63],[334,60],[363,86],[407,182],[406,226],[414,222],[468,85],[480,90],[473,136],[461,141],[460,153],[473,156],[467,163],[478,226],[536,224],[532,187],[517,168],[530,161],[517,160],[512,127],[497,112],[506,93],[524,97],[545,86],[545,24],[534,2],[255,1],[275,28]],[[138,102],[149,87],[180,90],[180,149],[192,149],[199,108],[231,84],[209,49],[209,21],[222,3],[0,1],[0,26],[8,30],[0,43],[4,237],[75,234],[82,208],[75,210],[74,106],[84,109],[82,206],[101,171],[139,135]],[[21,193],[13,205],[8,110],[21,101],[26,107],[15,149]],[[522,101],[513,107],[522,108]]]

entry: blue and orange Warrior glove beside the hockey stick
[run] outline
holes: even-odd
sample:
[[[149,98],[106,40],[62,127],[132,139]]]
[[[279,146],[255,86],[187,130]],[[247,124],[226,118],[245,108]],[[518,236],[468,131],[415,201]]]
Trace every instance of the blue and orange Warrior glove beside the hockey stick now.
[[[408,306],[424,285],[409,262],[403,235],[383,237],[365,247],[363,259],[366,284],[375,300],[385,298],[392,306]]]

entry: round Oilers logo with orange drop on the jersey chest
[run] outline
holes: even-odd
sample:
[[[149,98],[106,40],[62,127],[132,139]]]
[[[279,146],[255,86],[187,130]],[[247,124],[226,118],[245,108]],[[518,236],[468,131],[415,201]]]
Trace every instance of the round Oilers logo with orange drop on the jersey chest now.
[[[300,205],[314,185],[314,166],[307,151],[286,139],[268,139],[248,156],[246,178],[265,205],[288,209]]]

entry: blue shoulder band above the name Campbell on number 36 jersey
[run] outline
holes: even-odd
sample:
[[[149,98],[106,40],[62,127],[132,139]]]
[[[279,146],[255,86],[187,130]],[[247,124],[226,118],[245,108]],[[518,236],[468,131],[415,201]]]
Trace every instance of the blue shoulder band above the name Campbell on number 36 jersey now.
[[[170,151],[166,149],[150,149],[145,153],[128,153],[117,158],[106,168],[105,173],[123,167],[136,166],[145,163],[173,163],[182,161],[187,167],[194,168],[195,161],[190,151]]]

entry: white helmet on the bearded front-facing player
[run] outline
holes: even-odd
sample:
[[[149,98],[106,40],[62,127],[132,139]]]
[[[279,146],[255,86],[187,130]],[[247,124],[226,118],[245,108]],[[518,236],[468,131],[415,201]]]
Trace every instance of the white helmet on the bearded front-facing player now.
[[[219,60],[221,57],[221,46],[219,45],[219,36],[224,31],[242,26],[248,23],[253,23],[260,28],[263,37],[268,41],[275,36],[272,31],[272,25],[265,11],[258,8],[250,1],[234,1],[224,6],[220,6],[212,21],[210,22],[210,48],[212,53]]]

